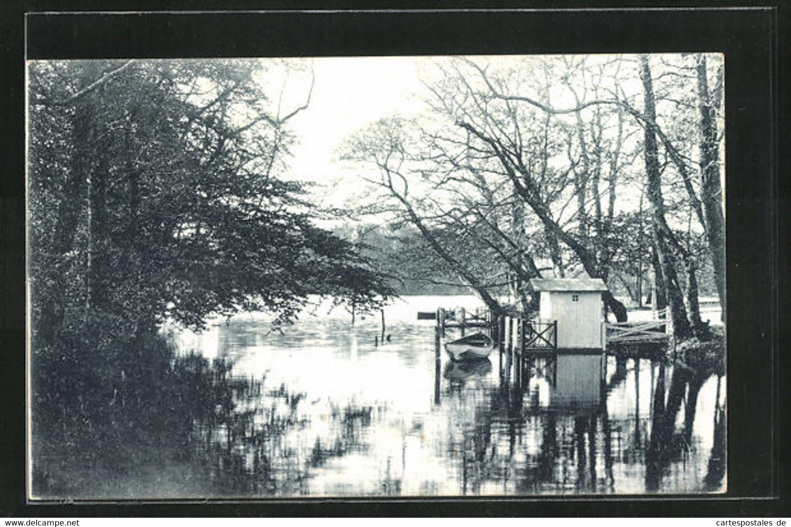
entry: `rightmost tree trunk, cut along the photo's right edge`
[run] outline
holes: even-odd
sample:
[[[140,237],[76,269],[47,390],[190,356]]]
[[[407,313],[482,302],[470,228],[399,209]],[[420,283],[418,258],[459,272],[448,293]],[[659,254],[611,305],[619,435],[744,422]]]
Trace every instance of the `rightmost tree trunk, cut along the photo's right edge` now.
[[[709,240],[714,281],[725,321],[725,214],[720,181],[720,150],[717,138],[717,108],[709,93],[706,56],[700,55],[698,72],[698,110],[700,111],[700,172],[702,176],[703,211],[706,215],[706,236]],[[720,88],[721,89],[721,88]]]

